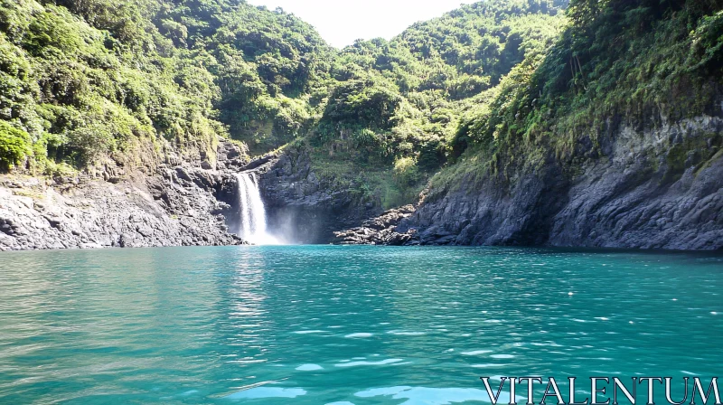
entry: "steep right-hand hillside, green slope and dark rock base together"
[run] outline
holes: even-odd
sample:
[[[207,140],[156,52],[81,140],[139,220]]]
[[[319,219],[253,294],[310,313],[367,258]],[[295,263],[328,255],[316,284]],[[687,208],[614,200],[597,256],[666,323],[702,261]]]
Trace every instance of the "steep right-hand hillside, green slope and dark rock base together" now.
[[[465,152],[394,231],[431,244],[723,249],[722,7],[572,2],[545,57],[467,114],[453,141]]]

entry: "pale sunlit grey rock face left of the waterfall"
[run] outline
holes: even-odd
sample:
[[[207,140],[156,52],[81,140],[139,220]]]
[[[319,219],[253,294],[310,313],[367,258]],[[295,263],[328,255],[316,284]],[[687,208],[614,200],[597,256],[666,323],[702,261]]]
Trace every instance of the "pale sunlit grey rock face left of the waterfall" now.
[[[240,157],[220,154],[219,163],[248,164]],[[158,173],[52,185],[0,177],[0,250],[244,243],[225,223],[238,198],[230,172],[162,166]]]

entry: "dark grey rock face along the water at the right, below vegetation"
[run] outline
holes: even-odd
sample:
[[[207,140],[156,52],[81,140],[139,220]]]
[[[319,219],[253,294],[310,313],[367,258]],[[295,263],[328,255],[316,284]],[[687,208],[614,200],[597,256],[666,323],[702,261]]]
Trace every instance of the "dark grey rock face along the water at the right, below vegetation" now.
[[[402,234],[407,244],[722,250],[721,134],[723,119],[710,117],[643,133],[624,127],[576,175],[549,159],[537,171],[519,169],[511,183],[461,179],[458,189],[427,196],[399,225],[357,239]],[[341,236],[353,242],[348,232]]]

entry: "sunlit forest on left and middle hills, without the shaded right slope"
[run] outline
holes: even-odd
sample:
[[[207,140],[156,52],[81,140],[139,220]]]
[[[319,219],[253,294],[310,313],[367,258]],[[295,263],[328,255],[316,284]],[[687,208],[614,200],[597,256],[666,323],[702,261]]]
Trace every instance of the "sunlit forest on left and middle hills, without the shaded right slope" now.
[[[385,206],[415,198],[463,111],[551,45],[565,5],[465,5],[337,51],[293,15],[244,2],[86,3],[0,7],[5,170],[153,171],[169,148],[212,161],[219,136],[251,155],[296,141],[330,184],[368,174],[366,197]]]

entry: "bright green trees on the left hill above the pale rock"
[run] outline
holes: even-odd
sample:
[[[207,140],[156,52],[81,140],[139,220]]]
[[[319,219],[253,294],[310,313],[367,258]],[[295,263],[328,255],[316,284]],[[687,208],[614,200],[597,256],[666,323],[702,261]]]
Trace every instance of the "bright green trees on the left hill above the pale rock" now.
[[[168,147],[212,158],[220,135],[298,130],[308,111],[287,95],[324,52],[295,17],[223,0],[0,0],[0,119],[40,171],[155,165]]]

